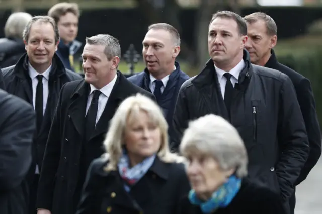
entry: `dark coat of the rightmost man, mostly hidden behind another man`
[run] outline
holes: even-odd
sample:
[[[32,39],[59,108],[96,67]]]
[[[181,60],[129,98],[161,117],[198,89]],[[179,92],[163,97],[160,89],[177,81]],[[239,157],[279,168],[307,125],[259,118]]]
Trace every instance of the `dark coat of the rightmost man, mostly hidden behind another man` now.
[[[301,108],[308,136],[310,153],[301,171],[301,174],[295,183],[298,185],[306,179],[308,173],[315,166],[319,157],[321,156],[321,133],[315,109],[315,100],[310,81],[304,76],[295,72],[295,70],[292,70],[291,68],[279,63],[273,50],[271,51],[271,54],[272,55],[265,64],[265,67],[279,70],[291,79],[296,91],[297,100]]]

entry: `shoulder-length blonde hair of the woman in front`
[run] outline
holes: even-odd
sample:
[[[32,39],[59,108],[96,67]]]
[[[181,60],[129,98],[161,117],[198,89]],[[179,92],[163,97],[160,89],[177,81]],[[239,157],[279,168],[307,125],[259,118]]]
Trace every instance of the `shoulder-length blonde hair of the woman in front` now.
[[[106,171],[117,169],[117,163],[122,156],[124,135],[129,118],[139,119],[139,113],[147,113],[151,121],[160,129],[161,145],[157,156],[166,163],[185,162],[185,158],[171,153],[168,145],[168,124],[160,107],[150,98],[136,94],[126,98],[116,110],[110,121],[110,128],[104,140],[106,153],[103,156],[108,160]]]

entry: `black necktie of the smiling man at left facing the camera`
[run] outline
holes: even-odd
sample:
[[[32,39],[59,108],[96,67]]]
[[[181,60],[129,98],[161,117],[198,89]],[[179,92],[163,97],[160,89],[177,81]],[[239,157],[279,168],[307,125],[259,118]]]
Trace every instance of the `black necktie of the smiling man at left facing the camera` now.
[[[39,132],[42,119],[44,116],[44,96],[43,96],[43,84],[42,84],[42,75],[37,75],[38,83],[36,88],[36,102],[35,102],[35,110],[36,110],[36,119],[37,119],[37,130]]]

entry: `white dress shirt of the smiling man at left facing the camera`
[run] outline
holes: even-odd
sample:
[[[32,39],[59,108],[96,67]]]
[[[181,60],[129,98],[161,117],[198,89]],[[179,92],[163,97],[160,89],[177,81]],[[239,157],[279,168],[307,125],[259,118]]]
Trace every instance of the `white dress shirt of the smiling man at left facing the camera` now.
[[[28,63],[28,70],[29,70],[29,77],[31,79],[32,84],[32,103],[34,106],[34,109],[36,109],[36,91],[37,91],[37,84],[38,84],[38,75],[42,75],[42,84],[43,84],[43,114],[45,114],[46,105],[47,105],[47,99],[48,99],[48,80],[49,80],[49,74],[50,74],[51,65],[48,67],[47,70],[45,70],[44,73],[40,74],[31,66],[30,63]],[[36,172],[35,174],[39,174],[39,168],[38,164],[36,165]]]

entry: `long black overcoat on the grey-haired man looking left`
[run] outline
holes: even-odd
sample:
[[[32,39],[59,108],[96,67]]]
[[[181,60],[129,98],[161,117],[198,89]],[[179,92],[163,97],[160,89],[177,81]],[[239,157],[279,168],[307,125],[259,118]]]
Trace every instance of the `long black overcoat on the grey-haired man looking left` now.
[[[108,98],[96,129],[88,142],[87,153],[92,159],[105,151],[102,143],[109,121],[119,104],[131,95],[141,93],[155,100],[153,94],[130,83],[122,73]],[[90,85],[84,80],[65,84],[60,92],[57,109],[50,128],[38,186],[37,208],[45,208],[52,214],[70,214],[76,211],[84,179],[80,172],[82,144],[85,134],[85,113]],[[84,176],[85,177],[85,176]]]

